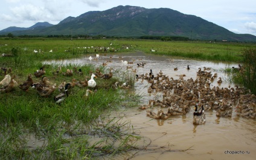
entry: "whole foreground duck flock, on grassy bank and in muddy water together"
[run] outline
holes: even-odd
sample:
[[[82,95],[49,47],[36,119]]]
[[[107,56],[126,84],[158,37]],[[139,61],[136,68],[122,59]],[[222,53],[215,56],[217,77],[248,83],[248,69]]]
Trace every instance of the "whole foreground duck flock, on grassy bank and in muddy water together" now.
[[[96,58],[99,58],[99,54]],[[111,58],[111,57],[110,57]],[[121,59],[121,57],[120,57]],[[108,62],[109,63],[109,62]],[[124,64],[133,64],[133,61],[123,61]],[[138,63],[136,66],[144,67],[146,63]],[[103,63],[106,66],[107,63]],[[127,70],[132,69],[132,66],[127,66]],[[136,74],[137,69],[132,69],[133,73]],[[178,68],[174,68],[177,71]],[[187,66],[187,70],[190,67]],[[15,86],[21,88],[21,90],[27,91],[28,88],[35,88],[39,95],[42,97],[50,96],[56,89],[59,90],[59,94],[54,96],[54,101],[56,103],[62,102],[66,97],[68,97],[68,89],[72,87],[89,87],[95,88],[97,85],[94,78],[100,77],[103,79],[112,78],[112,69],[110,68],[109,73],[101,73],[100,69],[96,69],[94,73],[91,72],[91,79],[88,81],[88,76],[85,76],[84,81],[76,81],[72,79],[72,82],[62,82],[60,85],[52,84],[45,75],[45,68],[42,67],[34,72],[34,76],[41,78],[39,82],[34,82],[32,75],[29,74],[28,78],[24,83],[19,84],[14,81],[15,76],[7,75],[7,72],[11,72],[10,69],[5,69],[5,78],[2,79],[0,85],[0,93],[10,92]],[[72,76],[73,74],[83,75],[81,69],[74,67],[74,69],[67,69],[66,72],[62,72],[61,67],[53,72],[53,75],[62,74],[63,76]],[[139,109],[146,109],[147,116],[156,119],[167,119],[171,116],[192,114],[191,107],[193,109],[193,124],[200,125],[206,122],[205,111],[215,110],[217,117],[232,117],[240,116],[245,118],[256,117],[256,96],[251,93],[245,93],[244,88],[238,87],[220,87],[222,84],[222,79],[217,73],[212,73],[210,68],[203,67],[199,68],[197,71],[197,78],[185,79],[185,75],[179,75],[179,79],[174,79],[168,77],[161,70],[153,74],[152,69],[149,73],[144,73],[141,75],[136,75],[136,81],[147,81],[150,86],[147,89],[148,93],[162,93],[162,99],[152,99],[149,103],[139,106]],[[211,83],[217,81],[219,86],[211,87]],[[115,83],[114,87],[121,88],[131,88],[130,84],[124,83],[118,86],[118,82]],[[92,93],[91,90],[86,90],[85,96]],[[153,111],[154,106],[159,106],[158,112]],[[235,113],[234,113],[235,112]],[[235,114],[235,115],[234,115]]]

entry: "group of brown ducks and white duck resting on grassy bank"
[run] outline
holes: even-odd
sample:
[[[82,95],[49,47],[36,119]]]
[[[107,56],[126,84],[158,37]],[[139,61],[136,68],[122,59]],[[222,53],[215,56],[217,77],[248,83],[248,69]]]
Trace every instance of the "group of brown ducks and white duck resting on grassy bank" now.
[[[2,86],[0,88],[1,94],[10,93],[11,91],[14,91],[16,87],[18,87],[23,91],[28,91],[29,88],[34,88],[35,90],[37,90],[37,93],[41,97],[49,97],[51,94],[54,94],[54,91],[59,90],[59,94],[54,96],[54,102],[56,103],[63,102],[63,100],[66,97],[68,97],[69,95],[68,90],[70,88],[73,88],[75,86],[79,88],[87,87],[88,89],[86,90],[86,94],[83,97],[88,97],[89,93],[95,93],[97,91],[97,90],[94,90],[94,88],[97,85],[94,78],[97,78],[97,76],[102,79],[112,78],[111,69],[109,73],[103,74],[100,72],[100,69],[97,68],[95,72],[91,72],[91,79],[89,79],[89,81],[88,81],[88,76],[85,76],[85,80],[83,81],[77,81],[76,79],[73,78],[71,82],[62,82],[61,84],[57,85],[57,84],[53,84],[53,82],[50,82],[48,77],[45,76],[46,71],[45,71],[45,67],[43,66],[39,70],[36,70],[33,75],[31,73],[28,74],[27,79],[21,84],[18,84],[18,82],[14,80],[16,76],[11,73],[11,69],[2,68],[1,70],[3,71],[1,73],[5,74],[4,79],[2,79],[2,81],[0,82],[0,86]],[[67,77],[72,77],[74,74],[77,74],[80,76],[83,75],[82,69],[77,70],[77,67],[74,67],[74,69],[67,69],[66,72],[62,72],[61,67],[59,66],[59,68],[52,73],[54,76],[62,75]],[[40,79],[39,82],[34,82],[33,76],[35,76],[36,78],[39,78]],[[92,90],[90,90],[89,88],[91,88]]]

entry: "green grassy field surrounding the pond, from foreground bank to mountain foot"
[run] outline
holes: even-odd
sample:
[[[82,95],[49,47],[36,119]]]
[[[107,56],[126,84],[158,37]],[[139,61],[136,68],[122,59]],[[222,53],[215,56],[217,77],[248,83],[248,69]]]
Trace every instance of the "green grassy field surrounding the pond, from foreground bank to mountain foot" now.
[[[108,49],[106,52],[147,53],[153,49],[153,54],[240,62],[242,52],[255,48],[255,44],[7,38],[0,39],[0,54],[8,55],[0,57],[0,67],[11,67],[10,75],[16,75],[15,80],[22,84],[29,73],[43,66],[44,60],[78,58],[86,54],[103,53],[104,48]],[[91,65],[66,64],[62,66],[62,71],[77,67],[83,70],[83,76],[56,76],[52,72],[57,67],[56,64],[45,66],[45,76],[57,85],[63,81],[71,82],[72,79],[83,80],[90,72],[95,72],[95,67]],[[104,67],[100,67],[100,70],[108,72]],[[3,78],[2,71],[0,79]],[[40,78],[33,77],[33,81],[39,82]],[[135,142],[141,137],[134,134],[129,123],[122,122],[121,117],[109,119],[101,116],[103,112],[105,115],[111,114],[112,109],[136,106],[139,102],[139,96],[113,88],[117,81],[124,82],[126,79],[97,79],[97,93],[85,98],[87,88],[74,87],[60,105],[53,100],[59,94],[57,90],[49,97],[40,97],[32,88],[22,91],[16,87],[10,93],[0,93],[0,158],[86,159],[135,149]],[[95,137],[98,141],[92,143]],[[33,146],[31,138],[40,143]]]

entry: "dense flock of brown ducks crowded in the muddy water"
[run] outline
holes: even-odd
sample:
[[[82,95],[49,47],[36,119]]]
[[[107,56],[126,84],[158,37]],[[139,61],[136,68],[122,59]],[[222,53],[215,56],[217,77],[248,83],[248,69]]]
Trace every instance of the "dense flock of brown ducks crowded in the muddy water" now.
[[[190,69],[189,66],[187,69]],[[139,109],[146,109],[147,116],[156,119],[193,114],[194,125],[205,123],[207,118],[205,111],[211,110],[216,111],[217,117],[240,116],[255,119],[254,94],[246,94],[238,85],[220,87],[222,79],[218,78],[217,73],[213,74],[210,68],[199,68],[196,74],[196,79],[184,79],[185,75],[179,75],[179,79],[169,78],[161,70],[156,75],[152,70],[149,73],[136,75],[138,81],[141,79],[150,83],[148,93],[162,93],[162,99],[151,99],[149,103],[139,106]],[[210,84],[214,81],[217,81],[219,86],[211,87]],[[160,109],[154,112],[154,106],[159,106]],[[190,113],[191,107],[194,107],[192,113]]]

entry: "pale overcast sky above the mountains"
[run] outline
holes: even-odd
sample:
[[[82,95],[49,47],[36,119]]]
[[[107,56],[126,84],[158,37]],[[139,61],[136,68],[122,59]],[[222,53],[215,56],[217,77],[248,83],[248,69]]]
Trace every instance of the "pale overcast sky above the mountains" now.
[[[170,8],[192,14],[239,34],[256,35],[254,0],[0,0],[0,30],[9,26],[30,27],[37,22],[56,25],[68,16],[104,11],[118,5]]]

